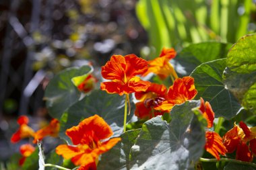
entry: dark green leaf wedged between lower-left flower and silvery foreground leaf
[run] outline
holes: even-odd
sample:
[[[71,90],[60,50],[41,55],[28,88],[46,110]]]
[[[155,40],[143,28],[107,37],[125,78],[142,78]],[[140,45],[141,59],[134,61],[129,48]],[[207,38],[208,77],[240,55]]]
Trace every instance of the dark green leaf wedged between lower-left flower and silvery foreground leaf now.
[[[139,136],[139,132],[140,129],[123,133],[120,136],[122,138],[121,142],[102,155],[97,169],[126,169],[126,165],[129,165],[131,147],[134,145],[137,136]],[[127,167],[127,169],[129,168]]]

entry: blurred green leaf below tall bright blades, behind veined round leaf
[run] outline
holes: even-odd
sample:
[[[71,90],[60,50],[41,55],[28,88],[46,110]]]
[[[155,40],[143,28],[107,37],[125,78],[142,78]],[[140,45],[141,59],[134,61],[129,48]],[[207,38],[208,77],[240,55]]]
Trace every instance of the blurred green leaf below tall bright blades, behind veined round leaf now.
[[[201,42],[183,48],[174,58],[174,67],[180,75],[189,75],[203,62],[225,58],[231,44],[221,42]]]

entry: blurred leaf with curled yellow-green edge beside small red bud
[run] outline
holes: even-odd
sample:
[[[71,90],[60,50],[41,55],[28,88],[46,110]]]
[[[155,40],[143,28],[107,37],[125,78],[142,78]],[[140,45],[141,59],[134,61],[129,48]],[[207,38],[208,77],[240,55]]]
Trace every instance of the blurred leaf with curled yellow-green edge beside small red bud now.
[[[53,118],[61,118],[63,112],[73,103],[78,101],[81,93],[73,85],[71,79],[80,75],[86,75],[92,71],[91,67],[73,67],[61,71],[51,79],[45,90],[44,99],[49,114]]]

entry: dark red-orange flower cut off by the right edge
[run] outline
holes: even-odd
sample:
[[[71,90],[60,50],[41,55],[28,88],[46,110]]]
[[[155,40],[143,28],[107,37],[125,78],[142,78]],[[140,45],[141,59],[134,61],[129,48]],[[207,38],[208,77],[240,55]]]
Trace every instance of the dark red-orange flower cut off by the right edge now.
[[[239,126],[234,124],[234,128],[226,132],[223,140],[228,153],[236,150],[236,159],[247,162],[253,161],[253,155],[256,155],[256,127],[248,128],[241,121]]]

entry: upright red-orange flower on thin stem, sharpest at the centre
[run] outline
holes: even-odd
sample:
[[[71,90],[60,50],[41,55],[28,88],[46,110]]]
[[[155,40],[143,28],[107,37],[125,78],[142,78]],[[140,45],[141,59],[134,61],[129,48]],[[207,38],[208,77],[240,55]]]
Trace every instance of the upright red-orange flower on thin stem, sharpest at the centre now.
[[[119,95],[146,91],[150,86],[149,81],[141,81],[136,75],[148,71],[148,62],[138,58],[135,54],[126,56],[113,55],[110,61],[102,67],[102,77],[111,81],[101,83],[100,89],[108,93]]]

